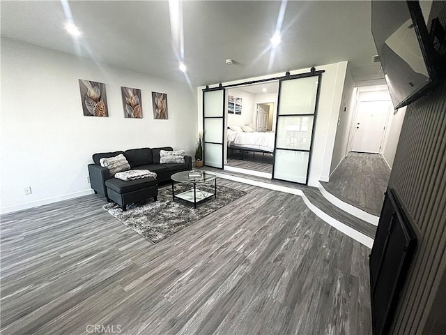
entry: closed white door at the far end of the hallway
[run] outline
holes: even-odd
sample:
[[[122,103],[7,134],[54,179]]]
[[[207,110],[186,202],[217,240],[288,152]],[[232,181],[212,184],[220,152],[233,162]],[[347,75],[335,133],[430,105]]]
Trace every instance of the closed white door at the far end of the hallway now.
[[[351,151],[379,154],[390,101],[360,101],[354,124]]]

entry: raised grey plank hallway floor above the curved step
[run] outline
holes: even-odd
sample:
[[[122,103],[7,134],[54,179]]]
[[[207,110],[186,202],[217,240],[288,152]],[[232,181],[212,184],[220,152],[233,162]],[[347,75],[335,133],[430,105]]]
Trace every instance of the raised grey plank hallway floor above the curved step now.
[[[390,169],[378,154],[349,152],[330,177],[326,191],[364,211],[380,215]]]

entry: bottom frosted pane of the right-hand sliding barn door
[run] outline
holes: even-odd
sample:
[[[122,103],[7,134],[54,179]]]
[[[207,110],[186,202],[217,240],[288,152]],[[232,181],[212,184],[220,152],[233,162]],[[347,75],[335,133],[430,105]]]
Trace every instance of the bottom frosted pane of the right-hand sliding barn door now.
[[[274,177],[295,183],[307,183],[309,152],[276,150],[274,158]]]

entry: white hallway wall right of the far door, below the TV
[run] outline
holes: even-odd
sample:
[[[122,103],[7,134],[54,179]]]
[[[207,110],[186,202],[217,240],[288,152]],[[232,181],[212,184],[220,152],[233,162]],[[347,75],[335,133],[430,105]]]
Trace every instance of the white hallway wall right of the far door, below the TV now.
[[[395,110],[389,119],[387,124],[387,136],[384,139],[383,149],[381,155],[383,156],[389,168],[392,168],[395,153],[397,152],[399,134],[401,133],[401,127],[403,126],[404,115],[406,114],[406,107]]]

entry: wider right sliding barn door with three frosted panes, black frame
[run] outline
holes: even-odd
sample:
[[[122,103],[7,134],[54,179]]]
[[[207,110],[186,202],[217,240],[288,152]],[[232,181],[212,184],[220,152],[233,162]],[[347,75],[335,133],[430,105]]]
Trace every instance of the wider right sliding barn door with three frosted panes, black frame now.
[[[308,184],[321,74],[279,82],[273,179]]]

